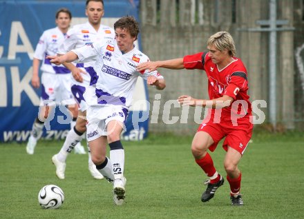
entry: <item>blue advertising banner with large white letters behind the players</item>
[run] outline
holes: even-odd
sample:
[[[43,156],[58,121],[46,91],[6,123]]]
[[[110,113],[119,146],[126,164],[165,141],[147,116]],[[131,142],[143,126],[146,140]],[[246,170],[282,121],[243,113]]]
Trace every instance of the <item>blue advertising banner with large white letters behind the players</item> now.
[[[122,16],[138,19],[139,1],[104,1],[102,23],[113,27]],[[68,8],[72,25],[87,21],[85,1],[0,1],[0,141],[25,141],[30,136],[37,117],[40,89],[31,85],[32,59],[44,30],[55,27],[55,13]],[[140,43],[140,37],[139,42]],[[41,73],[41,72],[40,72]],[[149,103],[146,84],[137,81],[134,100],[126,132],[122,139],[140,140],[148,132]],[[142,102],[140,100],[143,100]],[[43,138],[64,139],[70,129],[70,116],[65,107],[56,107],[47,121]],[[146,118],[146,119],[144,119]]]

